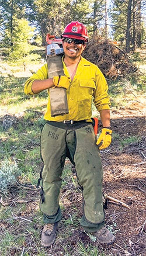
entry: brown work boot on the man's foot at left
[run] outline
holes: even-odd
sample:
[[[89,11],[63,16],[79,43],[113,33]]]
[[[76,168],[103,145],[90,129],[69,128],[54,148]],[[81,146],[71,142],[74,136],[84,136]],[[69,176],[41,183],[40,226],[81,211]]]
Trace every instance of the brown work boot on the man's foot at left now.
[[[50,247],[54,244],[58,223],[45,224],[41,233],[41,245]]]

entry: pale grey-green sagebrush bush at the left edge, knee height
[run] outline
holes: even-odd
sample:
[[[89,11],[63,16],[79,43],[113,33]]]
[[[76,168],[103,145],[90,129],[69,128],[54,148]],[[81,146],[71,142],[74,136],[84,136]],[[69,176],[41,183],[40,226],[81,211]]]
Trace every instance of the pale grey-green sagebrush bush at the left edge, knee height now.
[[[9,162],[8,159],[5,159],[1,162],[0,168],[0,190],[2,193],[7,193],[9,186],[16,184],[16,180],[20,175],[20,169],[16,162]]]

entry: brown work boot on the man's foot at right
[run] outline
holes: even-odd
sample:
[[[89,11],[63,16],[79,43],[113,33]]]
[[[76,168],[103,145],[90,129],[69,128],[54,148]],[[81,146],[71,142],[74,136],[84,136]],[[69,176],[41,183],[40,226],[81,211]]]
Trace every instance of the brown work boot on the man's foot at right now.
[[[102,244],[112,244],[115,240],[113,234],[108,229],[106,229],[106,227],[102,227],[102,229],[97,230],[92,234]]]

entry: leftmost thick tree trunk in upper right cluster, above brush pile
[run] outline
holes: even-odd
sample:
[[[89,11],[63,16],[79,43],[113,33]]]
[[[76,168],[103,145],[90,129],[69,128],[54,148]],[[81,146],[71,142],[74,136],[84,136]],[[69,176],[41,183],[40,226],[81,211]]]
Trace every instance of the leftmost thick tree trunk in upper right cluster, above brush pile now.
[[[132,4],[132,0],[128,0],[127,29],[126,29],[126,53],[130,52],[131,4]]]

